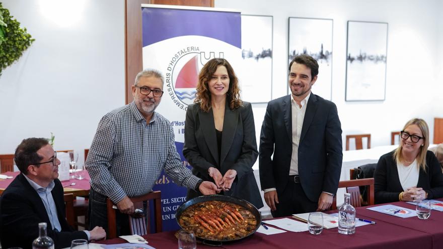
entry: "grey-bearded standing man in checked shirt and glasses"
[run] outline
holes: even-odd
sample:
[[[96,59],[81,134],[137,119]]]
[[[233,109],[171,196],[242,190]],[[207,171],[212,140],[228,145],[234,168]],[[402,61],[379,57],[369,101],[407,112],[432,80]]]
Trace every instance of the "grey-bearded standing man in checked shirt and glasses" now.
[[[192,175],[175,147],[170,122],[155,112],[163,96],[163,75],[155,69],[137,74],[134,101],[106,114],[89,149],[86,169],[91,176],[90,227],[108,227],[106,198],[117,205],[117,234],[129,233],[127,215],[133,214],[129,197],[152,191],[162,170],[175,184],[202,194],[219,192],[215,184]]]

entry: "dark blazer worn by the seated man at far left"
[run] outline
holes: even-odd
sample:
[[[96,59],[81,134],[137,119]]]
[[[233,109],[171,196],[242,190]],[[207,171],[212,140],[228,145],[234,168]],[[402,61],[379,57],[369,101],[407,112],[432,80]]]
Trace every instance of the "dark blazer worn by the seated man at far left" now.
[[[32,241],[38,237],[38,223],[46,222],[47,234],[54,240],[55,248],[69,247],[73,239],[88,239],[83,231],[73,231],[66,222],[63,187],[54,180],[52,197],[57,209],[61,232],[52,230],[45,206],[37,192],[20,174],[3,192],[0,201],[0,240],[3,248],[32,248]]]

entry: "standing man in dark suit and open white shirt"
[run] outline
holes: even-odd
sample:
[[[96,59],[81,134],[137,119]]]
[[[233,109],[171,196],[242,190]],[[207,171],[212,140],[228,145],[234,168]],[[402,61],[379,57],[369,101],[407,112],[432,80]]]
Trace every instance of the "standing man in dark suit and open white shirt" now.
[[[318,67],[309,55],[294,58],[289,64],[291,95],[270,101],[266,109],[260,183],[274,217],[328,209],[337,192],[341,125],[335,104],[311,93]]]

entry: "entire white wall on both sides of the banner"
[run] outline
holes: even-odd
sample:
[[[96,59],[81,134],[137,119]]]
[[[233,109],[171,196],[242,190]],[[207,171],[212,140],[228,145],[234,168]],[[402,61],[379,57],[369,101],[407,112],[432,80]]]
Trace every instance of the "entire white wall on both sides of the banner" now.
[[[56,149],[89,148],[99,119],[124,104],[124,1],[2,2],[36,41],[0,76],[0,153],[13,153],[25,137],[49,137],[50,132],[55,134]],[[45,10],[47,2],[55,9]],[[390,131],[401,129],[413,117],[428,122],[432,137],[433,117],[443,117],[441,1],[269,3],[217,0],[215,7],[274,17],[273,98],[286,95],[288,17],[330,18],[332,101],[343,137],[371,133],[373,146],[386,145]],[[54,13],[62,15],[52,17]],[[386,101],[344,101],[348,20],[389,23]],[[254,105],[257,138],[265,108],[266,104]]]

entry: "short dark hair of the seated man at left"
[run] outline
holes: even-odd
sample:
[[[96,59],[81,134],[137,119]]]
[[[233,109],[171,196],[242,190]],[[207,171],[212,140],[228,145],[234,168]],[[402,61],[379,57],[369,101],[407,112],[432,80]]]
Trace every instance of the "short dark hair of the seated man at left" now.
[[[23,139],[14,154],[14,160],[21,173],[27,175],[28,166],[43,159],[37,154],[37,151],[48,144],[49,141],[46,138],[31,137]]]

